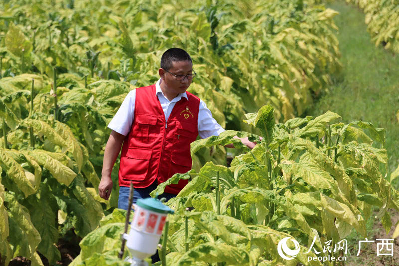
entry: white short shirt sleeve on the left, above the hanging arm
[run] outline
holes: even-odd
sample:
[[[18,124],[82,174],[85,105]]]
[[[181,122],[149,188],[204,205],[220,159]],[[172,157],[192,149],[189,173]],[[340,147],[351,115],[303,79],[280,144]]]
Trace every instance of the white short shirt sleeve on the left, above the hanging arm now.
[[[135,101],[136,90],[131,90],[128,95],[126,95],[111,122],[109,122],[108,127],[110,129],[124,136],[129,133],[133,123]]]

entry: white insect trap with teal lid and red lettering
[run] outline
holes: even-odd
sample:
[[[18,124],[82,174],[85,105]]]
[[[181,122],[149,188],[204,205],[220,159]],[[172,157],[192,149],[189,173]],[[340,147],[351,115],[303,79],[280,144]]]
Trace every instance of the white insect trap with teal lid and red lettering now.
[[[130,232],[123,238],[132,255],[131,266],[148,266],[144,259],[157,251],[167,215],[174,211],[155,198],[138,199],[133,206]]]

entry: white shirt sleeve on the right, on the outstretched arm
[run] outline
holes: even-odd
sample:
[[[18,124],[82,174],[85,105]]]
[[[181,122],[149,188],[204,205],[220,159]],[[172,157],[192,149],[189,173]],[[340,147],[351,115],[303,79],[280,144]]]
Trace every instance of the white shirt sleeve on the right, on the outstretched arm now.
[[[218,136],[225,131],[212,117],[212,112],[206,106],[206,103],[200,100],[200,110],[198,111],[198,134],[202,139],[210,136]]]

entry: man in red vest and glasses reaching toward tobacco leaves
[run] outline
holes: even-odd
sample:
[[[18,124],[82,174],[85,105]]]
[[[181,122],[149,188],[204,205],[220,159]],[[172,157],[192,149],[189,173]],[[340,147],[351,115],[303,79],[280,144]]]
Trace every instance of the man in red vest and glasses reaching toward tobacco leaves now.
[[[160,79],[156,84],[128,93],[108,125],[112,132],[105,146],[98,189],[100,197],[108,200],[112,189],[112,167],[123,144],[118,208],[125,210],[131,181],[135,188],[133,202],[149,197],[159,183],[175,173],[191,169],[190,143],[198,134],[207,138],[224,131],[206,104],[186,92],[196,75],[186,51],[167,50],[161,57],[158,73]],[[241,141],[249,148],[256,144],[248,138]],[[186,184],[187,180],[171,184],[160,196],[169,200]]]

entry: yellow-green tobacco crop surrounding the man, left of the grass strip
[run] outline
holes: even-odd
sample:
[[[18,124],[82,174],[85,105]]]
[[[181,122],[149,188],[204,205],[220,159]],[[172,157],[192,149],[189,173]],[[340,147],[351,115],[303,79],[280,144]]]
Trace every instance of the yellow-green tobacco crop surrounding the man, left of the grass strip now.
[[[399,193],[384,176],[385,130],[330,111],[304,116],[342,67],[337,12],[320,1],[0,7],[0,266],[17,256],[57,265],[71,232],[82,238],[71,265],[129,265],[117,258],[126,215],[116,209],[118,160],[110,200],[98,196],[107,124],[129,91],[157,81],[170,47],[192,56],[188,90],[228,130],[192,143],[193,169],[153,192],[190,180],[167,203],[175,214],[164,265],[333,265],[309,262],[313,251],[284,260],[278,243],[293,237],[306,250],[317,239],[323,250],[352,230],[367,237],[373,207],[391,228]],[[235,135],[259,144],[250,151]]]

